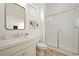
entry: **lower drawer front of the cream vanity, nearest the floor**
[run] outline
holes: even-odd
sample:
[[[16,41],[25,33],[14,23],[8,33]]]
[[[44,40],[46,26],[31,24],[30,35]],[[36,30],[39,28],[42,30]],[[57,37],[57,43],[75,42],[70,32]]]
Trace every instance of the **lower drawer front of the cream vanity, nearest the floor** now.
[[[35,55],[36,55],[36,45],[28,47],[27,49],[23,49],[14,54],[14,56],[35,56]]]

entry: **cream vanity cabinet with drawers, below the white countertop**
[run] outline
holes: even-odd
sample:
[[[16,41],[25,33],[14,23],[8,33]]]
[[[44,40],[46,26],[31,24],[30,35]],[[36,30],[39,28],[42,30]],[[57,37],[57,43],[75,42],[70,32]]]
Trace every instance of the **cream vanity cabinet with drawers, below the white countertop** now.
[[[0,56],[35,56],[36,55],[36,44],[38,40],[30,40],[28,42],[22,42],[0,50]]]

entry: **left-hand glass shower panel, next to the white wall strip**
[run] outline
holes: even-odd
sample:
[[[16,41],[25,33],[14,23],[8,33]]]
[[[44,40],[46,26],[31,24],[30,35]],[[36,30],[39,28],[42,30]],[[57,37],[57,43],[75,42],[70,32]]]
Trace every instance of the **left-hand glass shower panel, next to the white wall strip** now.
[[[53,18],[48,17],[46,18],[46,44],[53,46],[53,47],[58,47],[58,25],[57,23],[53,20]]]

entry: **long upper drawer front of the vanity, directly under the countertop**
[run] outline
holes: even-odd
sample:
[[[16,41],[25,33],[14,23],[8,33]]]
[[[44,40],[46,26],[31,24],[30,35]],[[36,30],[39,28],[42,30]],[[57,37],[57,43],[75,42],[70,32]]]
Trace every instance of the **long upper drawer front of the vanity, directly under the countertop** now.
[[[18,52],[20,50],[23,50],[23,49],[27,48],[30,45],[33,45],[34,43],[35,43],[34,41],[30,41],[30,42],[26,42],[26,43],[17,45],[15,47],[11,47],[11,48],[8,48],[8,49],[1,50],[0,55],[2,55],[2,56],[4,56],[4,55],[7,55],[7,56],[8,55],[13,55],[16,52]]]

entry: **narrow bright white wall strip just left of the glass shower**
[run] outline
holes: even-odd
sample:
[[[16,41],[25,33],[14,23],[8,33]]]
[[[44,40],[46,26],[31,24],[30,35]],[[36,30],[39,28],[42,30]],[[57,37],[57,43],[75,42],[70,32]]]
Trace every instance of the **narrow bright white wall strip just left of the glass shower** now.
[[[45,4],[44,3],[34,3],[38,7],[38,19],[40,21],[40,41],[45,42]]]

